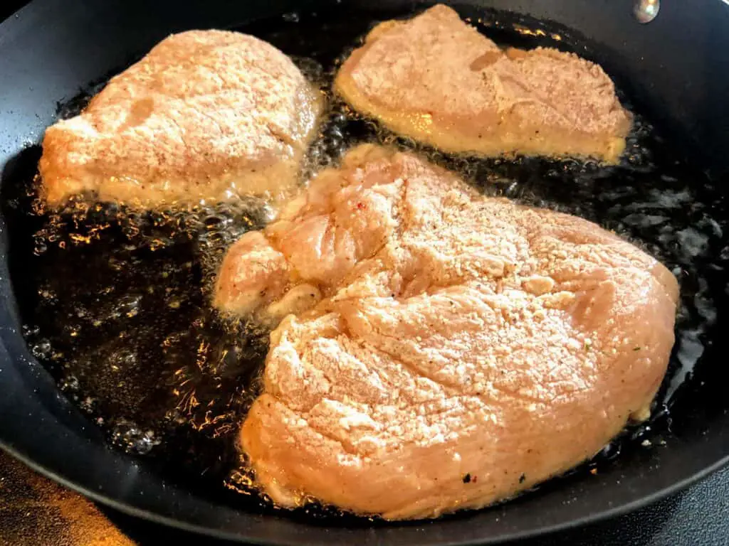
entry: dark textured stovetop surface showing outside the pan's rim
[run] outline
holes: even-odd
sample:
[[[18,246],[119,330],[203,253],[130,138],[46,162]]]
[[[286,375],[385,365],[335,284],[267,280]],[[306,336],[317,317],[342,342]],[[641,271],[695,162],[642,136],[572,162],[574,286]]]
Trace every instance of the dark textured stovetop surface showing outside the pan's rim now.
[[[26,3],[22,0],[0,0],[0,20],[11,17]],[[61,502],[58,499],[63,499],[63,506],[74,510],[59,512]],[[85,536],[66,529],[69,526],[85,530]],[[114,528],[116,531],[109,531]],[[9,456],[0,454],[1,545],[126,545],[129,542],[124,536],[139,545],[155,545],[162,541],[187,544],[192,540],[206,545],[222,544],[139,521],[105,507],[93,507],[76,494],[55,486],[12,461]],[[729,469],[635,513],[517,544],[729,545]]]

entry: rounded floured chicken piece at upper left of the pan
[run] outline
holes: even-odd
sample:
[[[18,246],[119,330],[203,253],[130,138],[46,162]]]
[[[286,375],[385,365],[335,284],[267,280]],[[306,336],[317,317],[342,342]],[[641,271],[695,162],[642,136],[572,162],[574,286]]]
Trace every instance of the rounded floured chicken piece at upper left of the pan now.
[[[320,111],[318,90],[265,41],[175,34],[48,128],[44,194],[145,207],[278,194],[295,183]]]

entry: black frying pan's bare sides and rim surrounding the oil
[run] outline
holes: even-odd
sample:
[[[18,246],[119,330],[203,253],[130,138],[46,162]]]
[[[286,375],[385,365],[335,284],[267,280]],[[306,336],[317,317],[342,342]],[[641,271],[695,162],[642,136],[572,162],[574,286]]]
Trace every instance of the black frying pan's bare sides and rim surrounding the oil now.
[[[44,127],[63,103],[144,54],[168,33],[187,28],[236,28],[252,20],[300,11],[352,9],[353,21],[402,15],[410,1],[155,1],[35,0],[0,25],[1,190],[35,172]],[[719,0],[665,0],[660,15],[640,25],[630,1],[493,0],[461,6],[464,15],[488,9],[573,29],[595,44],[598,60],[636,109],[670,135],[677,157],[706,172],[701,183],[721,184],[729,172],[729,7]],[[491,13],[491,12],[488,12]],[[346,13],[345,13],[346,15]],[[534,19],[528,20],[534,24]],[[551,24],[551,23],[550,23]],[[255,27],[253,27],[255,28]],[[707,206],[723,213],[723,196]],[[7,210],[7,207],[4,207]],[[729,326],[727,294],[703,339],[703,356],[671,408],[666,446],[628,449],[598,475],[556,480],[501,507],[427,523],[382,524],[357,518],[312,520],[271,510],[251,512],[163,478],[143,459],[114,451],[104,435],[58,392],[20,334],[15,271],[0,218],[0,443],[55,480],[123,512],[182,529],[248,542],[284,544],[466,544],[531,536],[634,510],[677,491],[729,462]],[[727,245],[717,234],[712,250]],[[729,253],[728,253],[729,254]],[[726,256],[729,258],[729,256]],[[712,282],[726,286],[722,261]],[[657,425],[658,426],[658,425]]]

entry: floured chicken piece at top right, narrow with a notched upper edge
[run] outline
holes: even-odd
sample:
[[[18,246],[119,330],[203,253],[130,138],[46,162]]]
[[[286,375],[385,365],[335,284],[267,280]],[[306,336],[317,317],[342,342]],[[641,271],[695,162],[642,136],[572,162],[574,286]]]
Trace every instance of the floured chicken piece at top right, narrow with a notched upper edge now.
[[[443,5],[376,26],[335,89],[391,130],[451,152],[617,162],[631,126],[596,64],[542,47],[500,50]]]

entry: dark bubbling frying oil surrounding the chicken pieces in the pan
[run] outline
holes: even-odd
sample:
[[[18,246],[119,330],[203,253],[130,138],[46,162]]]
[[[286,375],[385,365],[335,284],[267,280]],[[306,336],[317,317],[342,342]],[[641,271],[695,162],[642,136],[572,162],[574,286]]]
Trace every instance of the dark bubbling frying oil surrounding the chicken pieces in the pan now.
[[[327,90],[338,60],[369,27],[367,17],[288,14],[241,30],[292,55]],[[497,28],[493,18],[480,23],[498,41],[536,45],[533,36]],[[560,47],[568,42],[561,39]],[[61,115],[75,114],[82,103],[83,98],[71,101]],[[621,449],[660,443],[670,434],[671,406],[701,366],[707,332],[726,298],[720,273],[729,247],[723,246],[727,226],[720,191],[677,162],[650,124],[638,116],[619,166],[473,160],[394,137],[332,100],[307,170],[332,165],[361,141],[416,149],[487,194],[588,218],[663,261],[681,283],[682,301],[677,344],[654,418],[625,432],[578,472],[612,464]],[[4,189],[15,249],[12,277],[33,355],[117,448],[143,456],[168,478],[204,494],[230,496],[237,504],[245,494],[247,503],[270,509],[250,487],[235,449],[238,427],[257,394],[267,332],[225,323],[208,304],[225,249],[265,225],[270,209],[260,200],[241,199],[165,213],[78,203],[50,214],[35,201],[34,188],[26,181]]]

